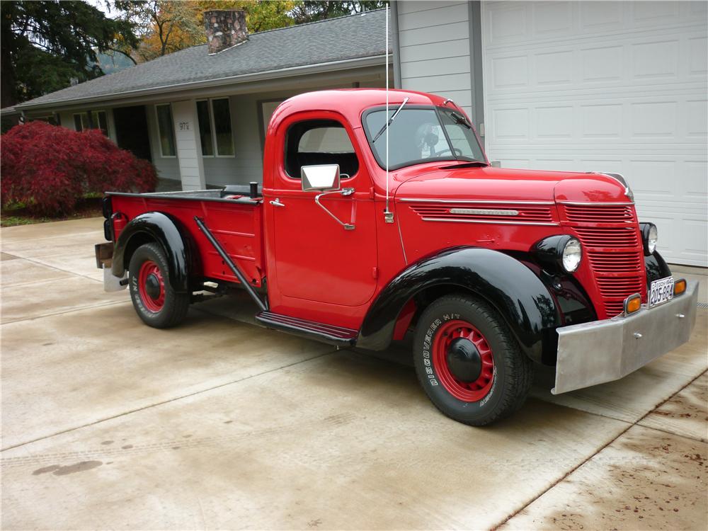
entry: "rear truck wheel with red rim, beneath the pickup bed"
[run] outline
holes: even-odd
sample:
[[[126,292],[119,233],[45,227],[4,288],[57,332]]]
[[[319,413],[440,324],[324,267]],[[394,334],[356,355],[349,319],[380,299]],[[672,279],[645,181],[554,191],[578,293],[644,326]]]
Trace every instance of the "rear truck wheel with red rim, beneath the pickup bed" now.
[[[148,326],[166,329],[180,324],[190,294],[173,290],[165,251],[158,244],[139,246],[130,258],[128,286],[135,312]]]

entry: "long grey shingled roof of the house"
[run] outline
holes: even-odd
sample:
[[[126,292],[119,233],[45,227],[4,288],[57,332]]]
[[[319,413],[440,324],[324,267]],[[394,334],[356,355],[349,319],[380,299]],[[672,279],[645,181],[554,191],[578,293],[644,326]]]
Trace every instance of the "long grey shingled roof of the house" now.
[[[271,79],[312,68],[346,69],[386,54],[384,9],[275,30],[215,55],[198,45],[16,105],[51,108],[116,97]],[[379,59],[380,58],[380,59]]]

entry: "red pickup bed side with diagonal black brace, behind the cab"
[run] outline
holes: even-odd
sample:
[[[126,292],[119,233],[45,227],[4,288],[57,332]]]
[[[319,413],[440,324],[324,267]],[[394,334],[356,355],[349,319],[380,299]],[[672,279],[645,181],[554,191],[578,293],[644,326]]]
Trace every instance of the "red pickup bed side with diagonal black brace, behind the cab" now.
[[[251,285],[263,285],[262,200],[249,197],[249,186],[186,192],[108,192],[106,195],[111,198],[113,212],[121,212],[128,221],[144,212],[162,212],[176,219],[198,247],[195,254],[200,257],[201,264],[195,275],[239,282],[198,229],[194,217],[200,217],[229,257],[251,280]]]

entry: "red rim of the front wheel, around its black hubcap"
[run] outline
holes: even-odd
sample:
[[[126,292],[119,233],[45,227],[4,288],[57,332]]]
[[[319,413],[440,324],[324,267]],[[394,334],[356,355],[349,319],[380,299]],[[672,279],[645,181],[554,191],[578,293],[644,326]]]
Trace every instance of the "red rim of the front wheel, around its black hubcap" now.
[[[463,382],[455,377],[447,363],[450,343],[457,338],[472,341],[481,358],[479,377],[473,382]],[[483,399],[494,382],[494,358],[486,338],[467,321],[454,320],[442,324],[433,339],[433,367],[442,387],[464,402],[476,402]]]

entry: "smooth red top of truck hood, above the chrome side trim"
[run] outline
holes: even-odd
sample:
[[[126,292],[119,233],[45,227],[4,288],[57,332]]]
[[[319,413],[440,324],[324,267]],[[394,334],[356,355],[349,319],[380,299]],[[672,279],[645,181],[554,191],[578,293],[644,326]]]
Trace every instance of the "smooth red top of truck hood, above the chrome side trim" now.
[[[397,176],[398,178],[404,176]],[[624,186],[599,173],[506,168],[435,169],[401,183],[396,198],[627,202]]]

